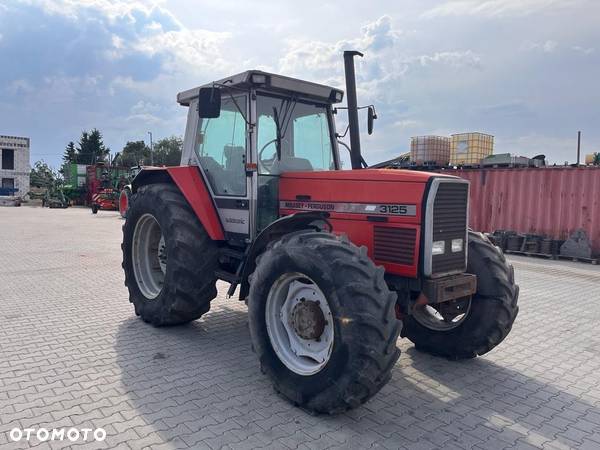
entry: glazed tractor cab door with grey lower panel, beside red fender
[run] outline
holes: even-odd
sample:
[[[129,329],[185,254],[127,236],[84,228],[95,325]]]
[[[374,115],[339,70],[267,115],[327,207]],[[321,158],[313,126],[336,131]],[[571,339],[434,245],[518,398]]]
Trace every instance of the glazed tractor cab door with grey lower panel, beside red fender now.
[[[216,118],[200,118],[195,154],[212,193],[227,240],[246,242],[251,236],[252,177],[246,176],[250,148],[246,118],[248,95],[223,95]]]

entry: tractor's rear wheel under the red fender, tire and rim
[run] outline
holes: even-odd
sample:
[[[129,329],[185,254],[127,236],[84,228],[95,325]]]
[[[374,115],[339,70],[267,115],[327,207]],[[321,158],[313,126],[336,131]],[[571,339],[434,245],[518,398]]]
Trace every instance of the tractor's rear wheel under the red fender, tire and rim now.
[[[123,270],[135,313],[155,326],[198,319],[217,296],[217,245],[172,184],[141,187],[123,225]]]

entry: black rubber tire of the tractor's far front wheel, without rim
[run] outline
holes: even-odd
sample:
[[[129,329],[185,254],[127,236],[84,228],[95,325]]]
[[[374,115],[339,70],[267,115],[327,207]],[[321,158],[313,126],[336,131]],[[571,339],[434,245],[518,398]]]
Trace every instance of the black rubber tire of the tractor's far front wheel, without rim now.
[[[464,319],[444,331],[423,325],[413,311],[404,319],[402,337],[410,339],[417,350],[453,360],[469,359],[489,352],[510,332],[519,312],[519,286],[512,265],[481,233],[469,232],[468,255],[467,272],[477,275],[477,291]]]

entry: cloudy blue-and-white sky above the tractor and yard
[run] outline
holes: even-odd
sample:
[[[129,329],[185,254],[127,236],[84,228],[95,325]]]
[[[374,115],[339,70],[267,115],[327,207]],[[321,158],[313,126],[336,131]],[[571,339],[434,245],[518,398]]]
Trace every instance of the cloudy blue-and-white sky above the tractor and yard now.
[[[598,0],[0,0],[0,134],[57,167],[82,130],[113,152],[183,135],[177,93],[244,70],[343,89],[349,49],[379,116],[369,163],[469,131],[552,163],[575,160],[578,130],[600,151]]]

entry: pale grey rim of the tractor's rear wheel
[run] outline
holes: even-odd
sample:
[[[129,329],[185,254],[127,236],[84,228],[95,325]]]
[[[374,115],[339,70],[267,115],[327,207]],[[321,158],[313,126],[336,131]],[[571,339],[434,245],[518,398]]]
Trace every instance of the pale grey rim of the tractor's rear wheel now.
[[[133,273],[144,297],[158,297],[167,273],[167,250],[160,226],[152,214],[144,214],[135,225],[132,246]]]

